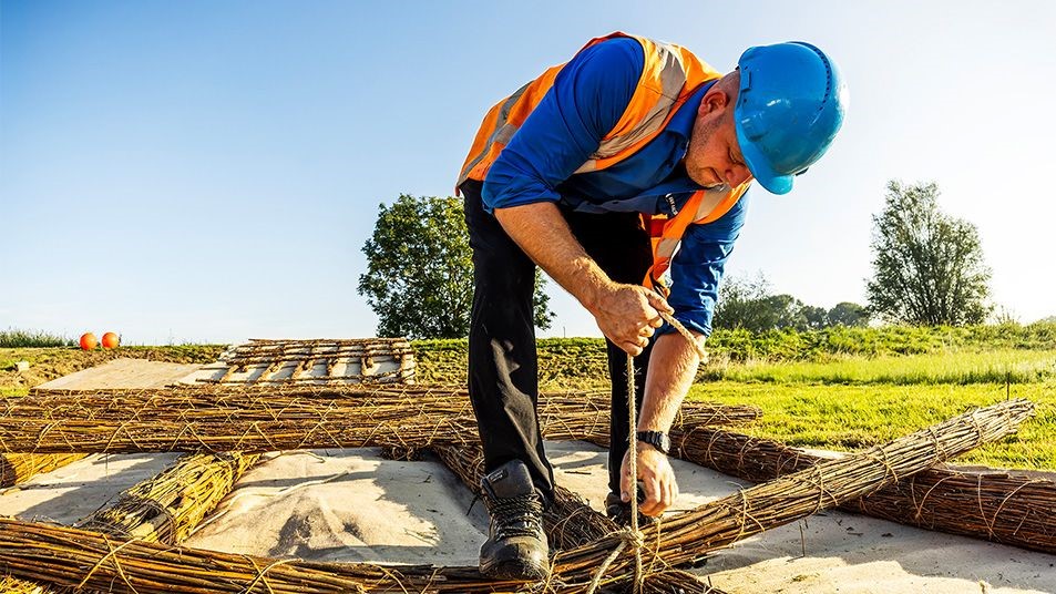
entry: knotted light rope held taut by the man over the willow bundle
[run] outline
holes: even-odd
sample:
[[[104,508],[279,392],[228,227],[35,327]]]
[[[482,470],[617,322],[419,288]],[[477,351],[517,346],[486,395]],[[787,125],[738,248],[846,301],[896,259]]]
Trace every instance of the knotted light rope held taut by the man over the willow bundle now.
[[[696,337],[681,325],[680,321],[675,319],[670,314],[659,311],[660,318],[664,319],[667,324],[670,324],[678,334],[683,335],[686,340],[689,341],[689,345],[693,346],[694,350],[697,352],[697,356],[700,357],[700,361],[707,360],[707,352],[700,347],[697,342]],[[608,566],[613,564],[614,561],[619,556],[619,553],[629,543],[634,550],[634,585],[632,586],[633,594],[639,594],[643,586],[645,585],[645,575],[642,571],[642,547],[645,545],[645,540],[642,535],[642,531],[638,529],[638,404],[637,398],[635,395],[635,383],[634,383],[634,357],[627,355],[627,408],[628,412],[628,426],[630,433],[628,439],[628,450],[627,450],[627,463],[630,467],[630,472],[634,473],[634,481],[632,481],[632,488],[634,493],[630,495],[630,528],[625,528],[621,531],[614,532],[612,536],[619,539],[619,545],[613,550],[612,553],[605,557],[605,561],[598,565],[597,571],[594,572],[594,578],[591,580],[591,585],[587,587],[586,594],[594,594],[597,591],[597,587],[602,583],[602,577],[605,575],[605,572],[608,571]]]

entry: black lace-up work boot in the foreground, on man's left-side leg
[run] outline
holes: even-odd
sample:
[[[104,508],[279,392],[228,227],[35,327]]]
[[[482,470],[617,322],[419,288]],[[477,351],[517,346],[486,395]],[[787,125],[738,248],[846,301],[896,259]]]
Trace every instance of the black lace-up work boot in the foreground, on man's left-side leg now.
[[[511,460],[481,479],[491,516],[488,541],[480,549],[480,572],[494,580],[544,580],[550,549],[543,532],[543,498],[527,467]]]

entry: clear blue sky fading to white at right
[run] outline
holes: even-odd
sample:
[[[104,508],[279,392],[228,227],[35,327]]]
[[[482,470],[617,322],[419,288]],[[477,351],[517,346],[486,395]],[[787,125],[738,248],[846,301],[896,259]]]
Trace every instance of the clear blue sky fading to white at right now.
[[[448,194],[486,109],[625,30],[730,70],[803,39],[844,131],[756,191],[732,274],[864,301],[889,178],[980,227],[996,303],[1056,315],[1056,3],[0,1],[0,329],[127,342],[370,336],[378,204]],[[551,335],[597,336],[553,284]]]

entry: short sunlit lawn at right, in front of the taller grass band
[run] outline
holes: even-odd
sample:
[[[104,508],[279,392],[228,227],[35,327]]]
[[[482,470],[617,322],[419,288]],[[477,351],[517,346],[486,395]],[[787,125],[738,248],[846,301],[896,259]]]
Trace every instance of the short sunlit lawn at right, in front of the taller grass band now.
[[[697,383],[689,398],[756,404],[762,418],[737,428],[790,445],[853,450],[889,441],[1006,397],[1038,407],[1034,419],[1001,443],[957,459],[1001,468],[1056,469],[1056,382],[817,386],[716,381]]]

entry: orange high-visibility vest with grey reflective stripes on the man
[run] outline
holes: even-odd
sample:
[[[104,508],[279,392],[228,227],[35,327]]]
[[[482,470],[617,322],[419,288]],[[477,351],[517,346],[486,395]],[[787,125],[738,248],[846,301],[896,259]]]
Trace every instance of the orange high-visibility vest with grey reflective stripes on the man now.
[[[721,78],[718,71],[680,45],[618,31],[592,39],[580,51],[618,37],[632,38],[642,44],[645,66],[630,102],[616,126],[602,139],[597,150],[575,173],[601,171],[634,155],[664,131],[678,109],[700,85]],[[458,185],[462,185],[467,180],[484,181],[492,163],[554,85],[554,79],[562,68],[564,64],[547,69],[488,112],[462,165]],[[686,227],[691,223],[717,221],[737,204],[747,187],[747,184],[742,184],[732,190],[696,192],[671,218],[664,215],[643,215],[646,228],[653,237],[653,267],[644,284],[667,295],[669,291],[668,284],[664,280],[665,273],[678,250]]]

